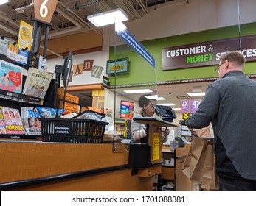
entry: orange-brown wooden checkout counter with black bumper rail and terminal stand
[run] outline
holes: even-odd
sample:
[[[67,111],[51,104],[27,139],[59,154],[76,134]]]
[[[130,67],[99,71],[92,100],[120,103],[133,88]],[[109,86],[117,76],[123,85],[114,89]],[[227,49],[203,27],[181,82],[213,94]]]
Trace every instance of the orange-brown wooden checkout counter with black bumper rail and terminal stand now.
[[[162,169],[159,128],[176,126],[156,118],[134,120],[147,124],[148,143],[120,143],[126,152],[114,152],[114,143],[1,139],[1,191],[152,191],[153,176]]]

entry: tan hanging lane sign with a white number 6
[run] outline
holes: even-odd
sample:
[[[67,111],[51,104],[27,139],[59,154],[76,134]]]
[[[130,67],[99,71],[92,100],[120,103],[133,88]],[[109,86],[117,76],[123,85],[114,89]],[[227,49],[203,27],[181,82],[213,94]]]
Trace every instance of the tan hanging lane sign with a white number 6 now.
[[[36,0],[34,4],[35,19],[50,23],[58,0]]]

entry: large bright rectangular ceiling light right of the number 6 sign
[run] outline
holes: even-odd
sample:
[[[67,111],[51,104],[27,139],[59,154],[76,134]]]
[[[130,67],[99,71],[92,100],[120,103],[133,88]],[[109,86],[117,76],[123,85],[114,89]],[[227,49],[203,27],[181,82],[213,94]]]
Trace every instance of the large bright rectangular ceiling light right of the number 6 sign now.
[[[94,15],[89,15],[87,17],[89,21],[95,26],[105,26],[109,24],[114,24],[116,21],[127,21],[128,16],[120,8],[115,10],[106,11],[103,13],[97,13]]]

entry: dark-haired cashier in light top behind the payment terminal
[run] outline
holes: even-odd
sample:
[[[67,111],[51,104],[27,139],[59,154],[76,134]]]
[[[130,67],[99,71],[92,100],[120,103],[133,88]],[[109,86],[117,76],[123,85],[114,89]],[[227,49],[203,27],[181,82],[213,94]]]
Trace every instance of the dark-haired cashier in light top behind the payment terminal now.
[[[156,99],[148,99],[145,96],[151,96],[151,94],[144,94],[139,98],[139,107],[142,108],[139,115],[134,115],[134,117],[152,117],[155,113],[153,108],[156,105]],[[162,142],[167,141],[168,135],[170,133],[169,129],[165,129],[162,132]],[[131,143],[147,143],[147,128],[145,124],[131,121]]]

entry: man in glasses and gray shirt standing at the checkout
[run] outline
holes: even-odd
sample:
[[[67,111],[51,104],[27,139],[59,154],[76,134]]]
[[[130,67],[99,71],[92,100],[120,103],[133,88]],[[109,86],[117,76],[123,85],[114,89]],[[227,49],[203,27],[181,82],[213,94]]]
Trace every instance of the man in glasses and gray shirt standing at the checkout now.
[[[237,51],[221,56],[212,82],[189,128],[214,129],[220,191],[256,191],[256,82],[243,74],[245,58]]]

